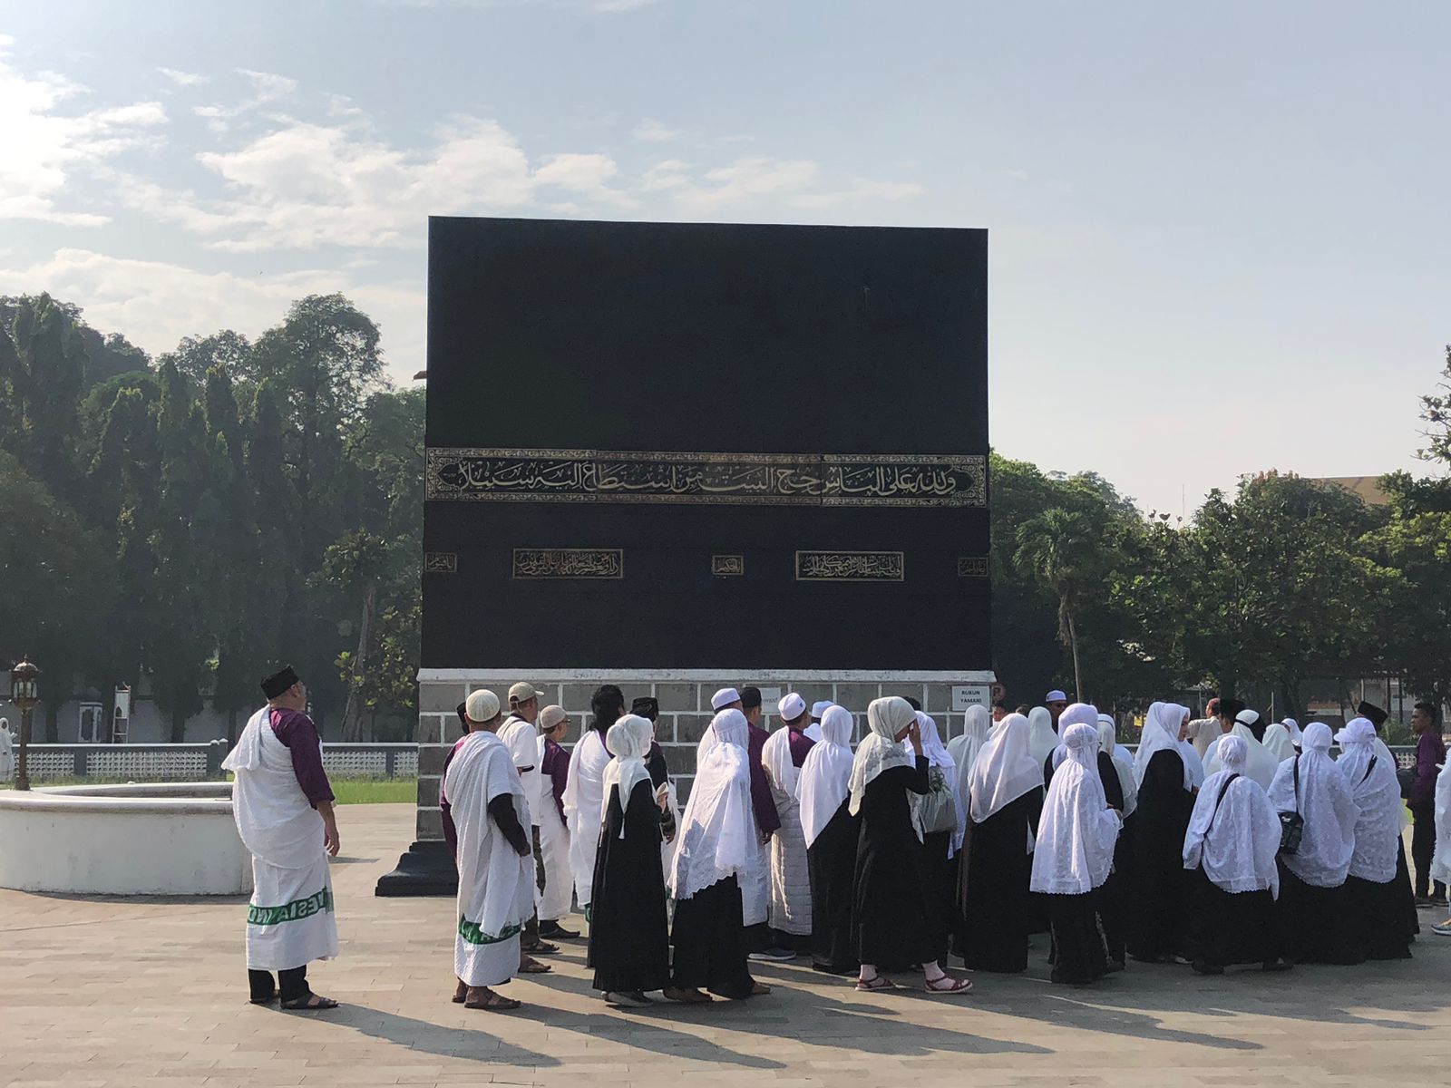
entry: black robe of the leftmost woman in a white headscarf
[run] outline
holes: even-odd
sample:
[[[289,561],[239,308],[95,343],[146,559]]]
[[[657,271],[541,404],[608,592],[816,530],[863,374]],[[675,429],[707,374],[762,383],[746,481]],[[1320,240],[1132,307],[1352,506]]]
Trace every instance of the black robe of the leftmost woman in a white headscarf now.
[[[649,780],[637,782],[630,791],[625,811],[620,809],[620,791],[609,791],[595,854],[586,965],[595,969],[595,989],[605,992],[628,994],[669,985],[660,807]]]

